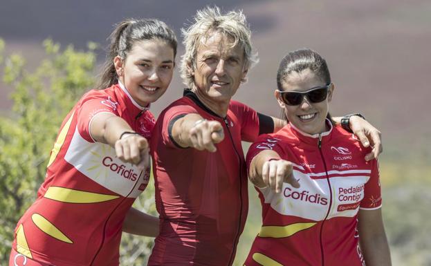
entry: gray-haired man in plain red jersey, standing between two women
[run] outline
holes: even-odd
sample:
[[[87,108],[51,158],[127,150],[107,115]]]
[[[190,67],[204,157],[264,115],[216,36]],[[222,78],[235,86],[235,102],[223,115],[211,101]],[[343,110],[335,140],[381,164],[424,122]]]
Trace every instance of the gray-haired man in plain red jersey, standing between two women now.
[[[248,211],[241,140],[284,123],[231,100],[257,61],[241,12],[205,8],[183,35],[190,89],[161,113],[151,141],[161,232],[149,265],[232,265]],[[373,135],[378,155],[379,132],[354,119],[356,135]]]

